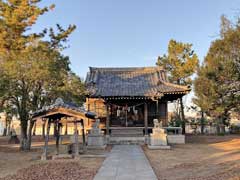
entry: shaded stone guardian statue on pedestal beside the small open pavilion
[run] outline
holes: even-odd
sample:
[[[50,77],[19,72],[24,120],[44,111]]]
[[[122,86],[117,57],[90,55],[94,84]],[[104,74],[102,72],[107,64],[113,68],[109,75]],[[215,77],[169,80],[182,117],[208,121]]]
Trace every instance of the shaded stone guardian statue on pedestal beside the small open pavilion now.
[[[96,119],[87,137],[87,143],[88,143],[87,148],[104,149],[106,147],[104,134],[99,128],[99,124],[100,124],[100,120]]]

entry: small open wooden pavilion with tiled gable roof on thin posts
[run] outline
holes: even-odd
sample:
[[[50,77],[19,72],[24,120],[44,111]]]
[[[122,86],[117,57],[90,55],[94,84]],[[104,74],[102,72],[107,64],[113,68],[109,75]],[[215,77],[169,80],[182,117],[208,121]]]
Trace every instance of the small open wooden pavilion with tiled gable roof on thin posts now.
[[[56,155],[59,154],[59,139],[60,129],[67,123],[74,123],[74,153],[75,157],[79,155],[79,144],[78,144],[78,126],[81,126],[83,135],[83,146],[85,146],[85,132],[84,124],[88,119],[94,119],[95,114],[92,112],[85,111],[72,103],[65,103],[61,98],[58,98],[56,102],[50,106],[46,106],[33,114],[33,119],[42,119],[47,127],[47,133],[45,135],[44,152],[42,160],[47,159],[48,152],[48,141],[51,124],[54,124],[55,137],[56,137]],[[45,129],[45,127],[44,127]]]

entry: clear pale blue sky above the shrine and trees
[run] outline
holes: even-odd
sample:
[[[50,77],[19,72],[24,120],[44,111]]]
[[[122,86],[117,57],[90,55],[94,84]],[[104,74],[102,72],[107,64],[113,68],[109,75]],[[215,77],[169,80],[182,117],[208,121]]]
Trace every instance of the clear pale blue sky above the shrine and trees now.
[[[193,44],[200,60],[219,35],[220,16],[234,19],[240,0],[45,0],[56,8],[33,27],[77,25],[64,53],[81,77],[89,66],[154,66],[170,39]]]

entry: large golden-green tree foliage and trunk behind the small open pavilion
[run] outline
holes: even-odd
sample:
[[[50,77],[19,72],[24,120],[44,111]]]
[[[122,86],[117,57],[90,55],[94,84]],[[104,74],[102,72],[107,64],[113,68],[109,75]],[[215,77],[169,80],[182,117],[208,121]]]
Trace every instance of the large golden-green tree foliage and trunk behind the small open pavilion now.
[[[16,109],[22,150],[31,147],[31,114],[35,110],[57,96],[81,103],[84,91],[80,78],[70,70],[68,57],[61,54],[75,26],[65,30],[57,25],[57,33],[53,28],[38,34],[29,32],[39,16],[54,8],[40,8],[39,2],[0,1],[0,101],[3,107],[10,104]]]

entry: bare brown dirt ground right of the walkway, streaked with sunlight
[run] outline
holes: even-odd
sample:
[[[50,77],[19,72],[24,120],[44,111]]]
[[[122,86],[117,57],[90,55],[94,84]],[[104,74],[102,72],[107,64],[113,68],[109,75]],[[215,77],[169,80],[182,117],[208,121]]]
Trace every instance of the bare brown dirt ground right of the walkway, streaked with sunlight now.
[[[171,150],[143,147],[160,180],[240,180],[240,136],[187,136]]]

